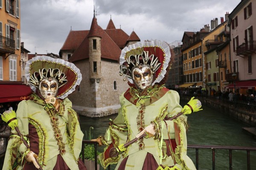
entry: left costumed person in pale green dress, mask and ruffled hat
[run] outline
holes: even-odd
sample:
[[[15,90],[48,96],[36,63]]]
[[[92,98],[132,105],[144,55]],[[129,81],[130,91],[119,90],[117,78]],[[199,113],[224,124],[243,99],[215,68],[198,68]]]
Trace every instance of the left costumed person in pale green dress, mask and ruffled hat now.
[[[37,56],[25,71],[35,93],[19,103],[16,115],[29,148],[12,130],[3,170],[37,170],[36,159],[43,170],[86,170],[79,159],[84,134],[67,98],[81,82],[80,70],[63,59]]]

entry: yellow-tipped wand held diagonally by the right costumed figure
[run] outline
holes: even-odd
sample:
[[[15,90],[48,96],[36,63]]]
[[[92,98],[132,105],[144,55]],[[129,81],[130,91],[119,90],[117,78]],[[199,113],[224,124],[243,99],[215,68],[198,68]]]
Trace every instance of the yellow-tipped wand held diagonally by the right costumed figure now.
[[[201,108],[201,102],[198,99],[194,99],[195,97],[192,97],[189,102],[183,107],[183,109],[181,110],[180,113],[177,113],[175,116],[169,118],[168,120],[173,120],[176,119],[178,116],[182,115],[182,114],[191,114],[193,112],[197,112],[197,111],[201,111],[203,109]],[[145,135],[142,134],[141,136],[139,136],[138,138],[135,138],[133,140],[131,140],[130,142],[127,142],[125,144],[120,144],[117,148],[112,147],[109,150],[109,155],[111,158],[118,156],[119,152],[123,152],[126,150],[126,148],[133,144],[134,142],[137,142],[139,139],[143,138]]]

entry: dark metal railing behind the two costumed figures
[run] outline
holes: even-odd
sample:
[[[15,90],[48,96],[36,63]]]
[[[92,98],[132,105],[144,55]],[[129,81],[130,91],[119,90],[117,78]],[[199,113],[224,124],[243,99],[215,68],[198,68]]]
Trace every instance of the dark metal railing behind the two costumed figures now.
[[[9,138],[9,135],[0,135],[0,138]],[[7,141],[7,140],[6,140]],[[84,162],[84,144],[93,144],[94,145],[94,153],[95,153],[95,170],[97,170],[97,142],[83,140],[82,144],[82,161]],[[250,151],[256,151],[256,147],[239,147],[239,146],[217,146],[217,145],[195,145],[188,144],[188,148],[195,148],[195,166],[196,169],[199,169],[199,149],[211,149],[212,150],[212,170],[215,170],[215,150],[229,150],[229,169],[232,170],[232,151],[233,150],[244,150],[247,152],[247,170],[250,170]],[[110,170],[110,166],[108,166],[108,170]]]

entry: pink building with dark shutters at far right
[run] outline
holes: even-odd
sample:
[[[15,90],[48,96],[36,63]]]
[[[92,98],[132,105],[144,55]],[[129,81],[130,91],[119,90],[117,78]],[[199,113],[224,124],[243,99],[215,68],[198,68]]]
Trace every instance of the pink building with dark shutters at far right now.
[[[231,39],[231,73],[228,77],[236,84],[227,88],[252,93],[256,86],[256,1],[241,0],[228,17]]]

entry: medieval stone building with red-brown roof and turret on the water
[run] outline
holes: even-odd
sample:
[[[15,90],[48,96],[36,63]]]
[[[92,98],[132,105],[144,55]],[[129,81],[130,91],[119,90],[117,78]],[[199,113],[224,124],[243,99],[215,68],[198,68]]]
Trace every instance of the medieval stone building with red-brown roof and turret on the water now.
[[[129,36],[121,28],[116,29],[112,19],[102,29],[95,15],[90,30],[70,31],[59,54],[81,71],[81,84],[69,96],[79,114],[97,117],[117,113],[119,95],[129,87],[119,76],[121,50],[138,41],[134,31]]]

